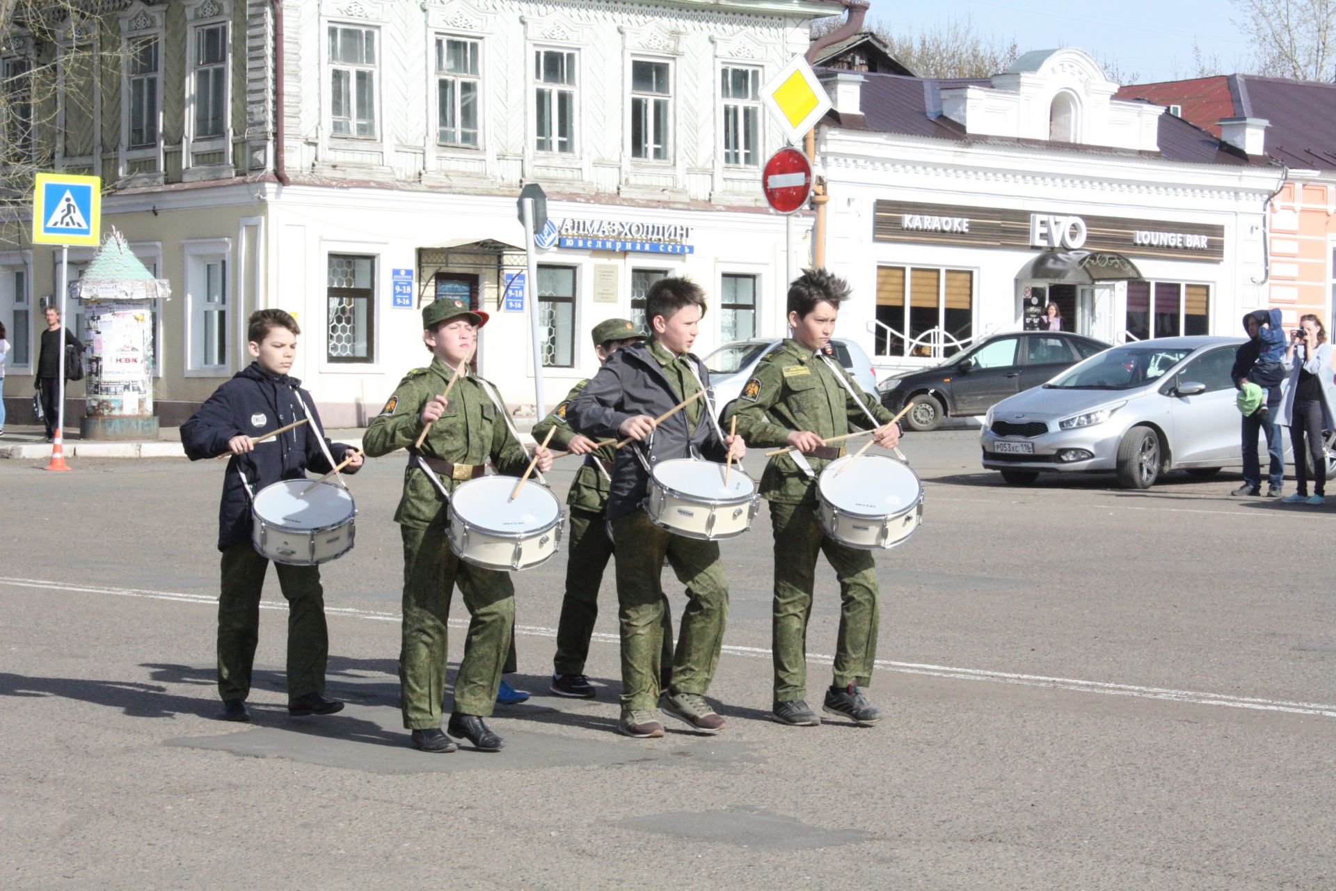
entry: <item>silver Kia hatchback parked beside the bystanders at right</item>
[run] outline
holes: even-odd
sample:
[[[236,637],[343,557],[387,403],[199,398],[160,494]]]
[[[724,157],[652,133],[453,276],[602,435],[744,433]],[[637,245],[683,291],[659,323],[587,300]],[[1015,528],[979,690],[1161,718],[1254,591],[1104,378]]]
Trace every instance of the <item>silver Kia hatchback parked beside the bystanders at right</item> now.
[[[993,406],[981,437],[983,466],[1013,484],[1042,472],[1116,470],[1125,489],[1146,489],[1166,470],[1210,477],[1237,466],[1229,371],[1240,343],[1174,337],[1093,355]]]

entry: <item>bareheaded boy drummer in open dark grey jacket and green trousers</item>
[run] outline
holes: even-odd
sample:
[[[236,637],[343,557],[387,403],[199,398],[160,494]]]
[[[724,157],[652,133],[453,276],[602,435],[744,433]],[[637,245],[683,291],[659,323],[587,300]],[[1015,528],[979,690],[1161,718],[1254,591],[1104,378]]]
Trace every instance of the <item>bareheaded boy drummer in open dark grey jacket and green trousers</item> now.
[[[724,461],[741,457],[741,437],[721,437],[701,399],[667,418],[655,418],[709,386],[705,365],[691,354],[705,295],[685,278],[655,282],[645,294],[651,339],[609,358],[576,397],[570,426],[595,438],[631,437],[643,445],[617,452],[608,494],[608,526],[617,549],[617,602],[621,625],[621,717],[617,731],[633,737],[663,736],[655,704],[697,731],[717,733],[724,719],[705,701],[715,677],[728,616],[728,582],[719,544],[676,536],[649,521],[641,509],[649,470],[659,461],[692,452]],[[660,700],[659,668],[663,613],[660,576],[664,560],[687,585],[687,609],[672,665],[672,681]]]

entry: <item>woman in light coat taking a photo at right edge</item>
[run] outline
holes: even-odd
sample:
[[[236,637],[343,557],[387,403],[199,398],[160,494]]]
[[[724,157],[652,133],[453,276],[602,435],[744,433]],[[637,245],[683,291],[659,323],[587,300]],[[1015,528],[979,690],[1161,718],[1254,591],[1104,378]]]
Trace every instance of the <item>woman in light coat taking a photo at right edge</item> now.
[[[1295,446],[1296,492],[1283,500],[1287,504],[1320,505],[1327,493],[1323,431],[1336,430],[1336,386],[1332,383],[1331,363],[1332,345],[1327,342],[1327,329],[1316,315],[1300,317],[1299,330],[1292,333],[1285,350],[1289,386],[1280,413],[1280,422],[1289,426],[1289,441]],[[1308,494],[1309,460],[1313,466],[1312,496]]]

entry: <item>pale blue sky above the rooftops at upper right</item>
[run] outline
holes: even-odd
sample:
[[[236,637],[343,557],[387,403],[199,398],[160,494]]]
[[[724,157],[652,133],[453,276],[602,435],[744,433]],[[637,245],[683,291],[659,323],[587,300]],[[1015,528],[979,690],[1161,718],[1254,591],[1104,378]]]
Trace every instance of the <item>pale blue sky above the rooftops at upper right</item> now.
[[[1128,83],[1194,76],[1193,41],[1225,73],[1242,69],[1250,52],[1229,0],[872,0],[870,13],[910,31],[965,16],[981,36],[1014,37],[1021,52],[1079,47],[1113,61]]]

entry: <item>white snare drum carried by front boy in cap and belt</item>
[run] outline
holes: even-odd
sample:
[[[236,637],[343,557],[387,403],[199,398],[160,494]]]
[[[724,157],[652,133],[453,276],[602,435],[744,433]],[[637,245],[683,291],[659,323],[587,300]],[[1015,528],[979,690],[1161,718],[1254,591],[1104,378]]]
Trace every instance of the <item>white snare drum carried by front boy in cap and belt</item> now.
[[[546,562],[561,544],[561,502],[537,482],[480,477],[450,496],[450,550],[486,569],[529,569]]]

